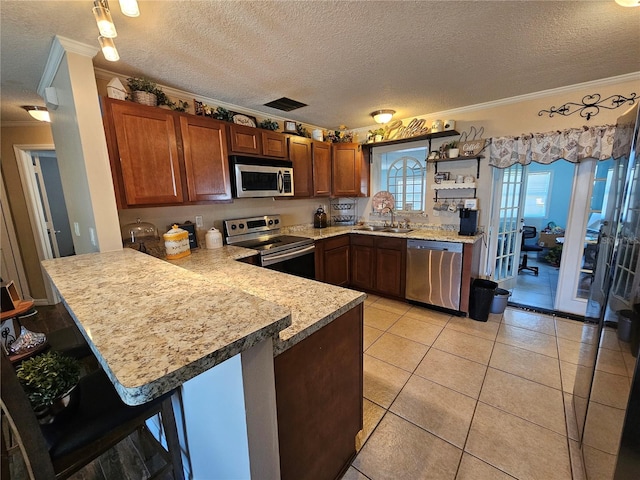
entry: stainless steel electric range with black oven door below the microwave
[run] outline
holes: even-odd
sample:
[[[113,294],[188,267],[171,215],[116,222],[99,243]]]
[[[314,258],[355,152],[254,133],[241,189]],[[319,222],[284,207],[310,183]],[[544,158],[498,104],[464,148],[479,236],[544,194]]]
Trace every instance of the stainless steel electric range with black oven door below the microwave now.
[[[282,235],[280,215],[225,220],[227,245],[259,252],[259,264],[272,270],[315,279],[313,239]]]

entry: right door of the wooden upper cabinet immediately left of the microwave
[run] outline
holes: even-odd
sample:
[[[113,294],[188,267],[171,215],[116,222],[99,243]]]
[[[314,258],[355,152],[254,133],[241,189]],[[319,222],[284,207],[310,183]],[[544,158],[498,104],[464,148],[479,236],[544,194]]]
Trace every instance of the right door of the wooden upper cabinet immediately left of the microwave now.
[[[189,201],[231,200],[225,124],[183,115],[180,133]]]

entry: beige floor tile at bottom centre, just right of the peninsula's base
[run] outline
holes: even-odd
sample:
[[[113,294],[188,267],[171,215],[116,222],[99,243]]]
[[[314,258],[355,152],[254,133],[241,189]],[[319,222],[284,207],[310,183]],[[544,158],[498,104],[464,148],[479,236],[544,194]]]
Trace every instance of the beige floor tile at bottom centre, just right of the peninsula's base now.
[[[371,479],[453,480],[462,451],[387,413],[353,466]]]

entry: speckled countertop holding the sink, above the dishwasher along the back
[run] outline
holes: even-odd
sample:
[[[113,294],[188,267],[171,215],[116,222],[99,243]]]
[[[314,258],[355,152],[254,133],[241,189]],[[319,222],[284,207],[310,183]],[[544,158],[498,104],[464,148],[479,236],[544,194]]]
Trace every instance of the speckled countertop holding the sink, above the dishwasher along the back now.
[[[411,227],[413,228],[413,227]],[[313,228],[310,225],[297,225],[293,227],[283,227],[284,233],[291,233],[294,235],[301,235],[303,237],[313,238],[314,240],[321,240],[324,238],[336,237],[345,233],[357,233],[359,235],[375,235],[384,237],[399,237],[399,238],[413,238],[417,240],[438,240],[441,242],[456,242],[456,243],[476,243],[482,238],[483,234],[479,233],[472,236],[458,235],[455,230],[440,230],[434,228],[420,228],[416,227],[408,233],[391,233],[382,231],[371,230],[359,230],[357,225],[340,226],[340,227],[327,227],[327,228]]]

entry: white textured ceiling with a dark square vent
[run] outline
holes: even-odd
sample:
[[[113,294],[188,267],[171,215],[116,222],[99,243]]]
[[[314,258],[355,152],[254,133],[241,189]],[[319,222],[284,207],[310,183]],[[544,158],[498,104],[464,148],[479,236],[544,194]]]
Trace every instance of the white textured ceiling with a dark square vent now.
[[[204,97],[334,128],[474,105],[640,71],[640,8],[606,1],[140,1],[111,11],[121,60]],[[2,121],[43,104],[51,41],[97,47],[91,1],[0,2]],[[308,104],[289,113],[263,104]]]

